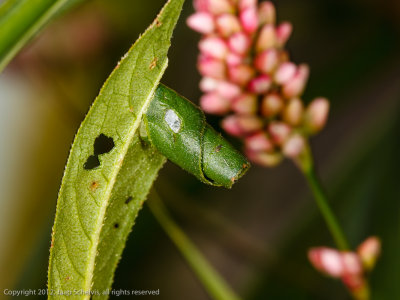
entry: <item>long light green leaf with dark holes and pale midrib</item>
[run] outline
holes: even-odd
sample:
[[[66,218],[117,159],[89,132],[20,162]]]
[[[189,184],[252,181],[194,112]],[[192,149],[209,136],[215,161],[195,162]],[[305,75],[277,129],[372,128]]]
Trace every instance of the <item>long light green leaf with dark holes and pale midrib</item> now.
[[[184,0],[170,0],[108,78],[73,143],[59,193],[49,298],[94,298],[111,287],[138,210],[165,158],[139,125],[167,66]],[[74,293],[81,291],[82,293]],[[97,294],[99,293],[99,294]]]

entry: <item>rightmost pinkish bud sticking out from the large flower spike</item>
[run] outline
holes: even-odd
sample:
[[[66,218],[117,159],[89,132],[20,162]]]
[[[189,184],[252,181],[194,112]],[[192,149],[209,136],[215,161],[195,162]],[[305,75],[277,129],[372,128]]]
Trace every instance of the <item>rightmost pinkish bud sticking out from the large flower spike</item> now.
[[[320,131],[328,119],[329,101],[325,98],[314,99],[307,107],[305,125],[311,133]]]

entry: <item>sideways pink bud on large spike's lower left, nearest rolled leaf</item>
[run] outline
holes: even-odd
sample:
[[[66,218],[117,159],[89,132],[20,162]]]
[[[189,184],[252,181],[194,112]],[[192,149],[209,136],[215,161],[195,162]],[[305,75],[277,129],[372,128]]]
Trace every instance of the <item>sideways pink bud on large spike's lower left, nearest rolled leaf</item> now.
[[[222,128],[233,136],[243,137],[263,127],[262,121],[256,116],[231,115],[222,121]]]

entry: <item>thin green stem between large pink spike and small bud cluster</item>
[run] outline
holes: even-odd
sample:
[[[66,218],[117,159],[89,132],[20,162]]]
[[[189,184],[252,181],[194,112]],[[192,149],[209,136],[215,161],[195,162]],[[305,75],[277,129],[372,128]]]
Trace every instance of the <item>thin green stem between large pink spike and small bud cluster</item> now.
[[[318,208],[326,222],[326,225],[328,226],[329,231],[333,236],[333,239],[335,240],[337,247],[343,251],[349,250],[350,247],[349,243],[347,242],[346,236],[344,235],[343,230],[340,227],[332,208],[329,206],[329,202],[325,195],[324,189],[322,188],[322,185],[315,172],[313,158],[309,148],[307,148],[305,153],[298,159],[297,163],[300,170],[303,172],[305,178],[308,181]]]

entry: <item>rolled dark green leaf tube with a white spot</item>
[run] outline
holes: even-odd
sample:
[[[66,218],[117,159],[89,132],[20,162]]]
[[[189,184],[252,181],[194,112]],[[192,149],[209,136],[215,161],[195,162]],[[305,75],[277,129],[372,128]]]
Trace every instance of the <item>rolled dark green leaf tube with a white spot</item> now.
[[[204,183],[230,188],[250,166],[206,123],[198,107],[162,84],[144,114],[143,125],[142,136]]]

